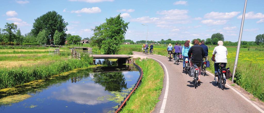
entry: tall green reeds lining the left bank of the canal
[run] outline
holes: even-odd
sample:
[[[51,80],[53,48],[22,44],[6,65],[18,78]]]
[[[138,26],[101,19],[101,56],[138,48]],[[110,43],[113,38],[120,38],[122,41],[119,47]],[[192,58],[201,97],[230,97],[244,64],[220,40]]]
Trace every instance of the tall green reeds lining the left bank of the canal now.
[[[81,60],[61,59],[50,64],[38,66],[0,68],[0,89],[13,87],[37,79],[44,79],[56,74],[67,72],[76,68],[86,68],[92,64],[93,59],[85,55]]]

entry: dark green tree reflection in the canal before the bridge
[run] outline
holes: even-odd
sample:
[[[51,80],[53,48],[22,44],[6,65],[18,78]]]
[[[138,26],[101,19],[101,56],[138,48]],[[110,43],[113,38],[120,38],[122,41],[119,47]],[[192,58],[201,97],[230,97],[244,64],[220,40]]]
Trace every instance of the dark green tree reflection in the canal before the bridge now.
[[[127,83],[125,83],[125,77],[122,72],[95,73],[93,77],[95,83],[105,87],[105,91],[121,91],[123,88],[127,89]]]

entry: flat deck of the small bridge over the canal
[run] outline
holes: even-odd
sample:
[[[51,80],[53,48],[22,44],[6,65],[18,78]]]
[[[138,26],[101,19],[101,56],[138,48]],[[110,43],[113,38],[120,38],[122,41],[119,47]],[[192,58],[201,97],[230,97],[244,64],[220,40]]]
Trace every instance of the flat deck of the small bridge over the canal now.
[[[95,59],[128,59],[132,58],[133,56],[129,55],[90,55]]]

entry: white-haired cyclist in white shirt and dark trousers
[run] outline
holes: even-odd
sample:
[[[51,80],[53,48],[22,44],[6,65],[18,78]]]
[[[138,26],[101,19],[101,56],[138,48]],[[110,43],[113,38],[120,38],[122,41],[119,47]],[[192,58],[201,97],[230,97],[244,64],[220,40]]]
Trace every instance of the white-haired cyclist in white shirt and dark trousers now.
[[[214,63],[214,68],[215,68],[215,76],[218,77],[219,75],[219,64],[224,63],[224,67],[227,65],[227,48],[223,46],[223,41],[218,41],[217,42],[218,46],[214,48],[213,51],[213,56],[212,60],[215,62]]]

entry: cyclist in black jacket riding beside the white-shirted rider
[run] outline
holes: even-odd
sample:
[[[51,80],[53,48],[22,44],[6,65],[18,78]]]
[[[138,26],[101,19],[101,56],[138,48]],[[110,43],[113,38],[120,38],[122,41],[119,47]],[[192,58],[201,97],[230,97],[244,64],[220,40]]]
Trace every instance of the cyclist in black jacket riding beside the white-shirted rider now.
[[[198,83],[200,83],[200,75],[201,75],[201,64],[202,59],[205,56],[205,51],[202,48],[202,46],[199,45],[198,40],[194,40],[194,46],[192,46],[188,52],[189,58],[191,58],[190,66],[192,67],[193,64],[196,64],[199,68],[199,74],[198,74]]]

